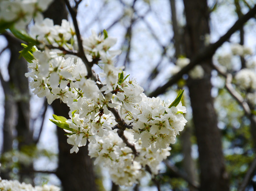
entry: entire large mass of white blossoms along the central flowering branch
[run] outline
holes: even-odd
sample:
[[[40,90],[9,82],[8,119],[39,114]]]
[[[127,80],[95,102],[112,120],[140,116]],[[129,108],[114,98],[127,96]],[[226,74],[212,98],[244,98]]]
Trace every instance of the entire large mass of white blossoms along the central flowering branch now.
[[[160,162],[170,155],[169,145],[187,122],[182,94],[172,103],[146,97],[134,79],[114,66],[120,51],[110,50],[116,39],[106,31],[82,39],[87,61],[101,70],[94,78],[88,77],[88,63],[77,54],[77,37],[69,22],[58,26],[37,17],[31,32],[40,44],[31,49],[26,77],[34,94],[45,96],[49,104],[60,99],[70,108],[70,119],[54,115],[51,120],[67,133],[73,145],[70,153],[89,141],[90,156],[111,169],[112,180],[120,185],[137,182],[147,168],[157,174]],[[126,141],[118,134],[122,120]]]

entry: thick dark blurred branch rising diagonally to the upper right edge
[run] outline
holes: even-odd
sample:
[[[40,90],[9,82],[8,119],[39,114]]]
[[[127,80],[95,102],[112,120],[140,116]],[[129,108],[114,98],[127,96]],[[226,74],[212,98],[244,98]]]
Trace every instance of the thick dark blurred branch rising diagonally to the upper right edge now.
[[[210,59],[216,52],[216,50],[223,45],[225,41],[227,41],[230,36],[237,30],[239,30],[249,19],[256,15],[256,5],[248,11],[247,14],[240,17],[235,24],[229,28],[229,30],[215,43],[208,45],[203,50],[200,50],[197,55],[195,55],[190,64],[185,66],[178,72],[175,76],[169,79],[164,85],[158,87],[155,91],[149,93],[149,97],[156,97],[164,92],[166,92],[167,88],[176,83],[179,79],[182,78],[184,74],[187,74],[195,65],[203,62],[204,60]]]

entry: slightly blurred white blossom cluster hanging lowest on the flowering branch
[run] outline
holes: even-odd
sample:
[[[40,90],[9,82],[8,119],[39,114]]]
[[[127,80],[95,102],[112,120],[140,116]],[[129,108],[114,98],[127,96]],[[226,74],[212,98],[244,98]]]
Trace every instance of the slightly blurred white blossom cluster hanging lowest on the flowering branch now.
[[[129,142],[135,142],[131,130],[126,130],[125,136]],[[171,149],[168,147],[153,152],[151,148],[143,147],[141,140],[134,144],[139,152],[136,157],[117,132],[111,131],[107,136],[97,138],[95,144],[89,144],[89,156],[96,158],[95,164],[102,164],[109,169],[115,184],[132,186],[145,175],[147,166],[153,175],[158,174],[160,162],[170,155]]]

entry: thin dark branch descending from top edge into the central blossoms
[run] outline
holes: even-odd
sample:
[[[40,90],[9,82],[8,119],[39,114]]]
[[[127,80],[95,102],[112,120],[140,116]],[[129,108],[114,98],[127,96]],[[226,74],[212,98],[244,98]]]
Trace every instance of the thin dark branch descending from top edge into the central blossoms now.
[[[95,77],[95,75],[93,75],[93,72],[92,72],[93,64],[88,61],[88,59],[87,59],[87,57],[84,53],[83,41],[82,41],[82,38],[81,38],[81,35],[80,35],[80,30],[79,30],[77,19],[76,19],[77,11],[71,7],[68,0],[64,0],[64,1],[65,1],[66,6],[67,6],[67,9],[70,13],[70,16],[73,20],[73,25],[75,27],[77,43],[78,43],[78,53],[77,53],[77,55],[85,63],[85,66],[86,66],[86,69],[87,69],[87,72],[88,72],[88,78],[92,78],[93,80],[96,80],[96,77]]]

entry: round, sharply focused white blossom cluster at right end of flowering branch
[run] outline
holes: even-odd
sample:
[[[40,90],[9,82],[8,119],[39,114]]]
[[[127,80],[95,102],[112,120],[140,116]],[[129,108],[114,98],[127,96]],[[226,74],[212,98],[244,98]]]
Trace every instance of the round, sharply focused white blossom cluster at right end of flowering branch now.
[[[176,136],[184,129],[187,120],[181,105],[170,107],[159,97],[149,98],[143,95],[142,101],[131,110],[122,109],[122,116],[133,128],[136,141],[141,140],[143,147],[151,146],[153,152],[165,149],[175,143]]]

